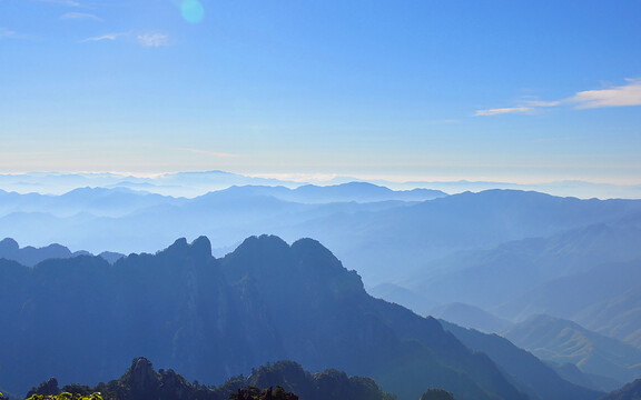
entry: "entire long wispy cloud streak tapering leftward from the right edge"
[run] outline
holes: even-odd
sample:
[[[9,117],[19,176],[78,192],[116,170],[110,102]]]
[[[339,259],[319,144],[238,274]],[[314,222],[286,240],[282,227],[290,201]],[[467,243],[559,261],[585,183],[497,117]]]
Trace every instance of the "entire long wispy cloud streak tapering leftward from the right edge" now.
[[[504,113],[524,113],[540,108],[572,106],[575,109],[641,106],[641,78],[627,79],[628,83],[605,89],[584,90],[574,96],[553,101],[523,100],[517,107],[477,110],[475,117]]]

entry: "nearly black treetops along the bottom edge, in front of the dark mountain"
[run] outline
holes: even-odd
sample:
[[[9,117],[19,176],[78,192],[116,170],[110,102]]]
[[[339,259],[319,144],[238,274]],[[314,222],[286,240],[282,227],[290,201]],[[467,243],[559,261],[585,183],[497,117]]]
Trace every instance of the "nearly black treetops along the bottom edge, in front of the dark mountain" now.
[[[142,357],[134,359],[120,379],[95,388],[68,384],[60,390],[52,378],[31,389],[28,400],[298,400],[298,396],[305,400],[396,400],[369,378],[333,369],[312,374],[294,361],[269,363],[247,378],[234,377],[219,387],[208,387],[189,383],[174,370],[156,371]]]

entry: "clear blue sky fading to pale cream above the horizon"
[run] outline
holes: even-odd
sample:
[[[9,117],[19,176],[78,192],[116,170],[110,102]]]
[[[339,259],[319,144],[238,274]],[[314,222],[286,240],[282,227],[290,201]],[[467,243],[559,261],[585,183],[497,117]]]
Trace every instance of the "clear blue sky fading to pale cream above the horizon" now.
[[[641,183],[641,1],[0,0],[0,173]]]

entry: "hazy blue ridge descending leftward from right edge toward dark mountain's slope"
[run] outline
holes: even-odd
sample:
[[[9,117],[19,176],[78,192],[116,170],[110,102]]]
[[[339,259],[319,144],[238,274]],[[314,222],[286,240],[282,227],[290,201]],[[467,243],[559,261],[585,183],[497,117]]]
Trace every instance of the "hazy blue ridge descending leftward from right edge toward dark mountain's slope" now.
[[[490,249],[454,253],[426,263],[400,284],[415,293],[427,293],[426,304],[434,299],[483,309],[496,309],[507,303],[504,309],[510,312],[504,311],[504,316],[524,319],[536,311],[527,310],[523,302],[514,302],[515,298],[542,290],[539,288],[562,278],[566,282],[580,281],[581,273],[605,263],[641,260],[639,241],[641,226],[635,223],[635,219],[617,219],[551,237],[527,238]],[[559,294],[550,302],[562,307],[563,293]]]

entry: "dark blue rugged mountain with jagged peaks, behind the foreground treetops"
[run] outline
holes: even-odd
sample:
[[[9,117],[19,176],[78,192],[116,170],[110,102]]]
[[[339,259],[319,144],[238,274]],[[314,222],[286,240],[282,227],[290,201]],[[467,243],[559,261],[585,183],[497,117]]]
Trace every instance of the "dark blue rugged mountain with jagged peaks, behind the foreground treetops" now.
[[[12,343],[0,348],[0,384],[12,392],[52,374],[106,381],[138,354],[201,382],[293,359],[372,377],[400,399],[431,387],[463,400],[532,392],[435,319],[369,297],[312,239],[252,237],[223,259],[201,237],[114,266],[87,256],[32,269],[0,260],[0,314],[11,321],[0,342]],[[566,399],[593,398],[586,393],[574,387]]]

